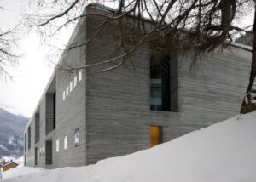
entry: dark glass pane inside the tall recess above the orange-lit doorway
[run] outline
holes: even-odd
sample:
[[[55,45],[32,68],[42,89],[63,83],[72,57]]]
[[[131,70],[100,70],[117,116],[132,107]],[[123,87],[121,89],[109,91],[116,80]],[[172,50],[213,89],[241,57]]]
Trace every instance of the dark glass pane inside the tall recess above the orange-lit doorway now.
[[[170,111],[170,57],[150,60],[150,110]]]

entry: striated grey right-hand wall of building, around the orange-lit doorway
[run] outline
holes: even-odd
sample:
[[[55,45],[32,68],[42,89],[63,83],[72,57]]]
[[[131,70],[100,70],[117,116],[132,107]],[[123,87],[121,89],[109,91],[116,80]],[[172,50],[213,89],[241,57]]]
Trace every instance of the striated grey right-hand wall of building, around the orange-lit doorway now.
[[[87,9],[96,14],[102,11],[93,6]],[[100,23],[97,18],[87,19],[87,37]],[[106,28],[88,43],[87,63],[108,58],[113,52],[117,43],[109,38],[111,31]],[[239,113],[250,68],[249,51],[231,46],[223,52],[216,50],[213,57],[206,54],[198,60],[195,72],[190,69],[189,55],[178,56],[177,112],[150,111],[151,54],[145,48],[132,56],[136,71],[130,61],[101,74],[96,71],[113,64],[87,71],[87,164],[149,148],[150,125],[162,127],[166,142]]]

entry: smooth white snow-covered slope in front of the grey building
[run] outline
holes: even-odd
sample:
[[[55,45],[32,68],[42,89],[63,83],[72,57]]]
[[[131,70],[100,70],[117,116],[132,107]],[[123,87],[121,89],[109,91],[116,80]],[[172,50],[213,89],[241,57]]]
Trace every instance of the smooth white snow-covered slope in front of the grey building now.
[[[154,148],[79,168],[15,168],[17,182],[255,182],[256,112],[232,117]]]

